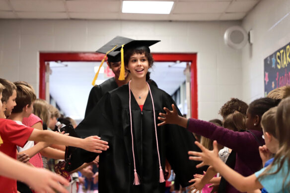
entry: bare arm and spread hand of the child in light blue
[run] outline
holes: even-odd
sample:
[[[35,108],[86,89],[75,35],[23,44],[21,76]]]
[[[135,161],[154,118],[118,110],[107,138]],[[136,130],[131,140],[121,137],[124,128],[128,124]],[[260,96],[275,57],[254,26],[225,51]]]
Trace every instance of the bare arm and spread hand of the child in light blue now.
[[[212,151],[206,149],[202,144],[197,141],[195,141],[195,144],[198,145],[203,152],[189,151],[188,154],[197,156],[190,156],[189,159],[202,161],[202,163],[198,164],[197,167],[202,167],[204,165],[213,166],[228,183],[230,183],[240,192],[247,192],[263,188],[263,186],[257,180],[255,174],[252,174],[248,177],[243,177],[242,175],[225,165],[218,158],[217,141],[214,141],[214,150]]]

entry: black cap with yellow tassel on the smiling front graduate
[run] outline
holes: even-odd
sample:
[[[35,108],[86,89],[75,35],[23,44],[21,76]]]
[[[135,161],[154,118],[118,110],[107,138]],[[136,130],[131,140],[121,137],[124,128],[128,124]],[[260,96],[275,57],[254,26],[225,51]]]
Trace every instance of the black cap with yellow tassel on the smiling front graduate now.
[[[125,80],[125,65],[124,65],[124,50],[144,50],[147,53],[150,53],[149,46],[160,42],[160,40],[132,40],[127,44],[120,45],[116,48],[116,51],[121,51],[121,70],[119,80]]]

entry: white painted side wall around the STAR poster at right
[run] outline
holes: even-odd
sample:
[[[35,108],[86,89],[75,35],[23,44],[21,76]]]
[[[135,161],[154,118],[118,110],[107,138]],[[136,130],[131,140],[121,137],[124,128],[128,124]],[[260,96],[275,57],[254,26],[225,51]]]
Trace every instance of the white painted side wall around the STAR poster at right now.
[[[290,0],[262,0],[242,21],[253,44],[242,49],[243,99],[264,97],[264,59],[290,42]]]

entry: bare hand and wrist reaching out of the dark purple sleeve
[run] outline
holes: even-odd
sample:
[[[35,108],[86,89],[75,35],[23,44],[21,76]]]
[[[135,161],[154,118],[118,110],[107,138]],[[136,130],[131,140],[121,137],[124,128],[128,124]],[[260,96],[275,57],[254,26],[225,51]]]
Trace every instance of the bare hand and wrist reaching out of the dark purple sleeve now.
[[[165,124],[175,124],[183,128],[187,128],[188,119],[178,115],[174,104],[172,104],[171,106],[172,106],[172,111],[164,107],[163,109],[166,112],[166,114],[159,113],[159,116],[161,117],[158,117],[158,119],[162,121],[162,123],[158,124],[158,126],[163,126]]]

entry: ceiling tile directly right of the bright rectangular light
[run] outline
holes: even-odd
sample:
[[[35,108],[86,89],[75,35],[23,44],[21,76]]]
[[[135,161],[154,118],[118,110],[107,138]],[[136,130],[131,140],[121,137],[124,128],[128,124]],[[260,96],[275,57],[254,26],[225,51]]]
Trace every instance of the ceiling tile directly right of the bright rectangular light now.
[[[180,1],[172,13],[222,13],[229,4],[230,1]]]

